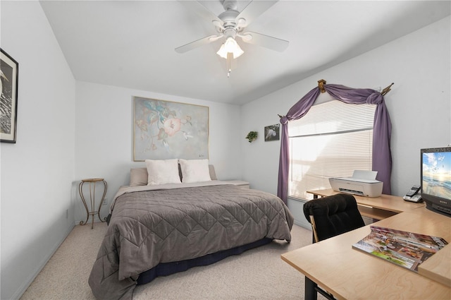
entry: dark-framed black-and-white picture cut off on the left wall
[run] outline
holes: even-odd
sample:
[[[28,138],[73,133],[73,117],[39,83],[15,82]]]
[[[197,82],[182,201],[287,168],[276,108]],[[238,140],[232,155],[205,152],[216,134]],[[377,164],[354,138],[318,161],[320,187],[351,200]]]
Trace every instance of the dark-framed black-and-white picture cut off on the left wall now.
[[[0,49],[0,141],[16,143],[19,64]]]

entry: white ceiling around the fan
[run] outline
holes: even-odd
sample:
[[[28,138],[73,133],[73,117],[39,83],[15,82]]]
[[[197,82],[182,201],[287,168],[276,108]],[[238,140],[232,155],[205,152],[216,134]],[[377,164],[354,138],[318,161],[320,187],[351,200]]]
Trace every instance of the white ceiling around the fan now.
[[[256,0],[257,1],[257,0]],[[200,1],[216,14],[218,0]],[[40,1],[76,80],[244,104],[450,15],[450,1],[287,1],[247,30],[290,41],[285,52],[246,44],[227,77],[214,25],[178,1]],[[249,1],[239,1],[241,11]],[[318,78],[321,79],[321,78]]]

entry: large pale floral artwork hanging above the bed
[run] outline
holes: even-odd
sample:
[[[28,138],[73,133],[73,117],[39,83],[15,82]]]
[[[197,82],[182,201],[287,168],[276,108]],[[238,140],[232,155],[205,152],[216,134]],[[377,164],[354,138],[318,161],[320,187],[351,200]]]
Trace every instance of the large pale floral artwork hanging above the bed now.
[[[133,160],[209,157],[209,107],[133,97]]]

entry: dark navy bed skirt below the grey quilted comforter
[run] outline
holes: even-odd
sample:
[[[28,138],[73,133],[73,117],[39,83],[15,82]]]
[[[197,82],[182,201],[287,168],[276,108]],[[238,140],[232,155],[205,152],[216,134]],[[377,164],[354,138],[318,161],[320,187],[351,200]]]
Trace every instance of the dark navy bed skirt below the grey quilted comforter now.
[[[211,265],[212,263],[216,263],[219,260],[223,260],[228,256],[239,255],[249,249],[257,248],[259,246],[263,246],[271,243],[273,239],[260,239],[259,241],[254,241],[253,243],[237,246],[235,248],[231,248],[228,250],[219,251],[216,253],[207,254],[206,256],[202,256],[199,258],[192,258],[188,260],[175,261],[171,263],[160,263],[156,265],[154,268],[142,272],[140,277],[138,277],[137,284],[147,284],[154,280],[159,276],[167,276],[177,272],[183,272],[193,267],[199,267],[202,265]]]

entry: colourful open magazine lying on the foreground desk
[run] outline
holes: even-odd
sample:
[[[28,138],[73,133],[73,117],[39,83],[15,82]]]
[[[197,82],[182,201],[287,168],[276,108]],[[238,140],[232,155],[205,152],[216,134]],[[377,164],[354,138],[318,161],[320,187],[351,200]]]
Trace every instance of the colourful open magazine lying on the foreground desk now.
[[[447,241],[438,236],[402,232],[370,226],[371,233],[352,245],[352,248],[370,253],[391,263],[418,272],[418,266],[439,251]]]

